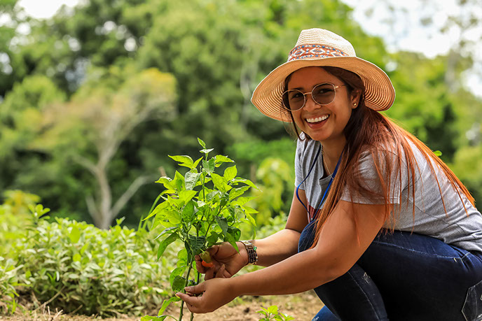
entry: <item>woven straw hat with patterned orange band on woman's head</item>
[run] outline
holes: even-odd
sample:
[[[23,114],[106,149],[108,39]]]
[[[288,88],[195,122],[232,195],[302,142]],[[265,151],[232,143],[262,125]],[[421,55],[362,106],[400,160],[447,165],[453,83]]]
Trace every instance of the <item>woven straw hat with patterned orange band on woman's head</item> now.
[[[364,83],[365,105],[387,110],[395,99],[395,90],[387,74],[375,64],[357,57],[350,42],[324,29],[301,31],[288,61],[259,83],[252,103],[261,113],[275,120],[291,122],[289,111],[282,108],[284,80],[294,71],[308,66],[333,66],[356,73]]]

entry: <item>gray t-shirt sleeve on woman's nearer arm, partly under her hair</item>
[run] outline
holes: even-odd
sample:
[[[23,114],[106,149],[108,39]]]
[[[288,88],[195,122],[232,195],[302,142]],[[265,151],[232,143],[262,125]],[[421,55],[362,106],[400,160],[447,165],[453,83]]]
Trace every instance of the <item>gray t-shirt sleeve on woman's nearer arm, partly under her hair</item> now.
[[[358,204],[385,204],[383,190],[387,189],[390,204],[400,204],[401,191],[408,183],[406,164],[399,159],[399,155],[387,150],[378,150],[374,155],[380,159],[378,169],[372,152],[362,152],[358,168],[349,178],[357,189],[350,190],[350,184],[347,184],[341,200]],[[383,174],[383,181],[378,177],[378,172]]]

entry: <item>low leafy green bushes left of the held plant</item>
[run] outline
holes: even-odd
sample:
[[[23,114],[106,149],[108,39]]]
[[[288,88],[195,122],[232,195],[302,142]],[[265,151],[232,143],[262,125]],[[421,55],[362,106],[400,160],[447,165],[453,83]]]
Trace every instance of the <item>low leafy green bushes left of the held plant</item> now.
[[[175,249],[156,260],[146,229],[121,227],[122,220],[110,229],[62,218],[48,222],[41,218],[48,209],[32,206],[32,195],[8,196],[0,205],[0,313],[15,312],[15,297],[23,295],[65,313],[140,315],[169,295],[164,288]],[[27,207],[33,213],[25,213]]]

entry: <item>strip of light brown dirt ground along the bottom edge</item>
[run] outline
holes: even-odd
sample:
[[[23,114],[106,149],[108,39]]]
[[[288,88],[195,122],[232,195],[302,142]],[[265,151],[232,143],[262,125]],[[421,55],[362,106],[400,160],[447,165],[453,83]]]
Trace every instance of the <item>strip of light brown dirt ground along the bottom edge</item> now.
[[[268,308],[271,305],[276,305],[279,311],[291,315],[295,320],[311,320],[312,317],[322,308],[323,304],[317,298],[315,292],[305,292],[302,294],[283,295],[283,296],[268,296],[268,297],[240,297],[230,304],[219,308],[213,313],[195,315],[194,321],[258,321],[261,318],[256,311],[261,310],[261,307]],[[189,320],[190,313],[184,308],[185,318]],[[179,308],[173,308],[168,311],[174,317],[179,315]],[[50,311],[48,308],[43,311],[28,311],[27,313],[18,313],[11,317],[1,316],[0,320],[11,321],[91,321],[102,320],[95,316],[81,316],[81,315],[65,315],[62,311]],[[104,321],[137,321],[139,317],[125,317],[125,318],[108,318]],[[172,319],[167,319],[172,320]]]

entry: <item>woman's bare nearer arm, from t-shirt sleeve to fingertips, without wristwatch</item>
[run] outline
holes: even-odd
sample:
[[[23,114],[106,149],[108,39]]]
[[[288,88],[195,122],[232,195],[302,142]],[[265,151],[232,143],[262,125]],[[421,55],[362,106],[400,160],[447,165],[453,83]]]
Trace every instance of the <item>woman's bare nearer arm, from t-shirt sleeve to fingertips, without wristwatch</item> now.
[[[190,311],[206,313],[243,294],[292,294],[313,289],[346,273],[376,237],[384,218],[384,205],[340,201],[326,220],[315,248],[266,269],[186,289],[192,294],[204,292],[202,297],[178,295]]]

